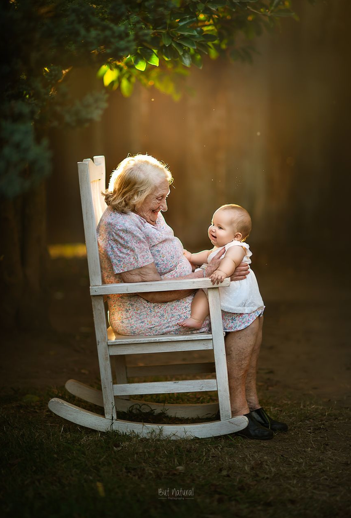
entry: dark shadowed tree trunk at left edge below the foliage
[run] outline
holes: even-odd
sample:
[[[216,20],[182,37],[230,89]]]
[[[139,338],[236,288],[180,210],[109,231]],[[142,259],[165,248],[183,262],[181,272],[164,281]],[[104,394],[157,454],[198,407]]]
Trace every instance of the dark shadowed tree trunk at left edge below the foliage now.
[[[0,232],[1,328],[50,327],[44,183],[2,200]]]

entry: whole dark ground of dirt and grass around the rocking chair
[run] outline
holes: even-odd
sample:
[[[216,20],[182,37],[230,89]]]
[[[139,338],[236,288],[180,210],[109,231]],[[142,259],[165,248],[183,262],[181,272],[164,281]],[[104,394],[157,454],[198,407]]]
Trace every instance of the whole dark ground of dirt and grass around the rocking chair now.
[[[338,263],[316,261],[322,252],[304,250],[298,260],[291,248],[279,258],[269,248],[256,254],[266,304],[258,389],[269,413],[289,425],[267,442],[101,436],[47,410],[54,395],[80,404],[65,393],[67,379],[98,383],[86,261],[52,261],[54,330],[5,337],[6,516],[112,518],[118,507],[158,517],[167,505],[174,516],[246,517],[253,502],[258,518],[349,516],[350,292]],[[194,488],[193,500],[157,496],[160,487],[181,486]]]

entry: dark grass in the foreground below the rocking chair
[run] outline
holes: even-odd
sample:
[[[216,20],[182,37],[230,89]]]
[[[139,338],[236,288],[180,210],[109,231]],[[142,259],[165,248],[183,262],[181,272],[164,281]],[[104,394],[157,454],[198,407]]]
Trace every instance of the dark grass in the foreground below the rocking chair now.
[[[148,440],[70,424],[48,410],[53,396],[80,404],[64,389],[2,397],[3,516],[350,515],[347,409],[284,396],[281,413],[266,405],[290,425],[272,441]],[[180,488],[193,498],[172,499]]]

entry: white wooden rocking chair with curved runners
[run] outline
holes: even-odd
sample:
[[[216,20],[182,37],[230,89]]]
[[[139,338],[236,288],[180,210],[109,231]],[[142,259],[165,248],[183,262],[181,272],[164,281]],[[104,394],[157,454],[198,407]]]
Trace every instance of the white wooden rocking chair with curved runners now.
[[[134,433],[143,437],[155,436],[155,434],[171,439],[214,437],[245,428],[248,424],[245,416],[235,418],[231,416],[218,286],[213,286],[209,279],[102,284],[96,226],[106,208],[104,197],[101,195],[101,191],[105,189],[104,156],[94,156],[94,162],[90,159],[79,162],[78,169],[102,391],[75,380],[67,381],[66,389],[74,396],[104,407],[104,415],[71,405],[59,398],[51,399],[49,408],[62,418],[81,426],[100,431],[118,430],[121,433]],[[227,286],[229,283],[230,280],[225,279],[222,286]],[[115,336],[112,328],[107,328],[103,300],[105,295],[200,288],[209,289],[211,334]],[[126,367],[125,362],[125,356],[129,354],[199,350],[213,350],[215,362],[139,367]],[[116,383],[113,382],[113,364]],[[216,379],[128,383],[129,377],[208,372],[216,372]],[[130,395],[201,391],[217,391],[219,403],[164,405],[146,404],[145,401],[129,399]],[[117,418],[117,411],[127,411],[135,404],[146,404],[155,414],[166,412],[177,418],[205,418],[215,414],[219,407],[220,420],[195,424],[145,424]]]

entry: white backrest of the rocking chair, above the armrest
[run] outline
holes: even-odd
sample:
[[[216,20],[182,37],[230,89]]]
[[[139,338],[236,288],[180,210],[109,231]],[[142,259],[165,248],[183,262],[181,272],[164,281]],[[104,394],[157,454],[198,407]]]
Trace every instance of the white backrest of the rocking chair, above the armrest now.
[[[101,191],[105,190],[105,157],[94,156],[78,162],[86,253],[91,286],[102,284],[96,227],[107,207]]]

